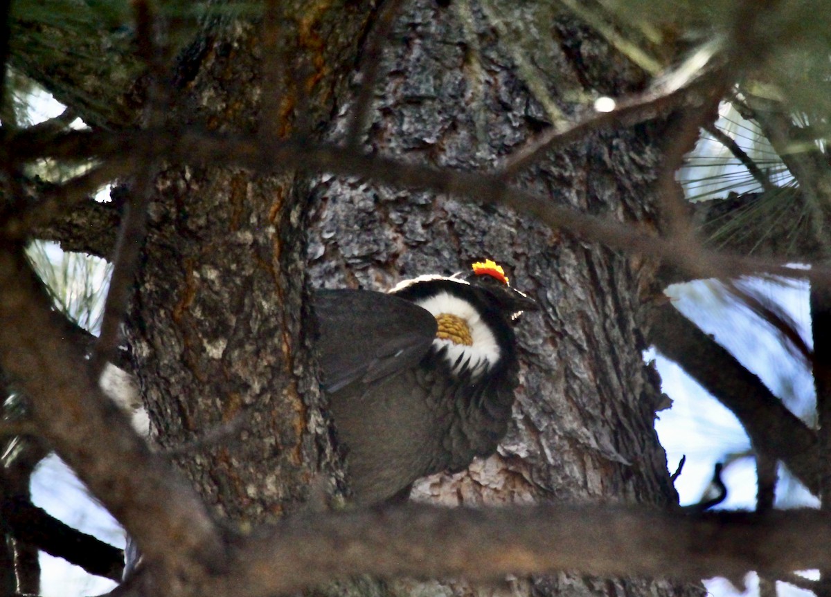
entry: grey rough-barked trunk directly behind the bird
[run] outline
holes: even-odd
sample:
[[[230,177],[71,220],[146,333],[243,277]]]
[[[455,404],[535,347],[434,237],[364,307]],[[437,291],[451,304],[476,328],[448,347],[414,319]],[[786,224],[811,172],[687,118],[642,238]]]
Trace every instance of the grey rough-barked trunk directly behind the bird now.
[[[451,168],[489,169],[547,116],[514,70],[505,49],[510,41],[498,39],[477,13],[477,54],[459,5],[451,6],[405,7],[381,68],[369,149]],[[513,17],[518,22],[519,15]],[[535,31],[532,17],[524,21],[530,36],[525,50],[545,65],[536,76],[545,77],[562,110],[571,110],[563,100],[571,94],[620,95],[642,84],[568,17],[555,16],[548,31]],[[341,138],[346,120],[332,126],[332,138]],[[589,135],[535,166],[523,184],[558,203],[650,226],[660,130],[661,125],[643,125]],[[468,472],[421,482],[416,499],[468,505],[676,502],[652,426],[661,394],[641,357],[642,330],[656,292],[652,263],[576,242],[502,208],[328,176],[313,192],[319,202],[309,249],[315,285],[387,288],[403,277],[459,271],[487,256],[511,267],[512,283],[542,307],[517,328],[524,367],[514,420],[499,453]],[[480,587],[457,581],[416,589],[401,581],[395,588],[431,595],[682,590],[660,581],[568,575]]]

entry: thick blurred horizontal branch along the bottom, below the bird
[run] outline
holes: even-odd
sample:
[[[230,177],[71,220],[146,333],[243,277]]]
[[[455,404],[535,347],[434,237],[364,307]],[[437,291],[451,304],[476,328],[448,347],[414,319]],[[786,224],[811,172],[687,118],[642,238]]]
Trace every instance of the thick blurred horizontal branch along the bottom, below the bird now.
[[[248,582],[235,586],[246,597],[356,573],[484,580],[553,570],[697,580],[819,567],[829,549],[831,519],[818,511],[687,517],[615,506],[407,505],[261,529],[238,546],[237,570]]]

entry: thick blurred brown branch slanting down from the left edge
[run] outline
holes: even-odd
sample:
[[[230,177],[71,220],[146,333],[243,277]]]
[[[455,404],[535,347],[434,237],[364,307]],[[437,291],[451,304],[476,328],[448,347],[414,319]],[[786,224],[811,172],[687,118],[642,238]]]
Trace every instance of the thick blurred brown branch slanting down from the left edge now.
[[[209,560],[219,540],[203,504],[90,378],[22,249],[0,247],[0,366],[43,436],[150,559]]]

